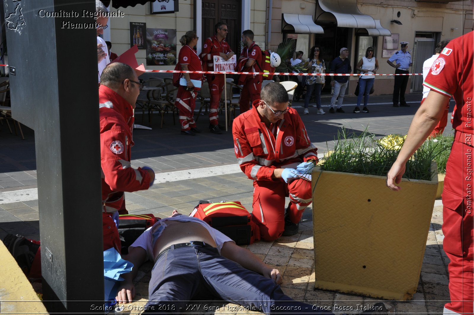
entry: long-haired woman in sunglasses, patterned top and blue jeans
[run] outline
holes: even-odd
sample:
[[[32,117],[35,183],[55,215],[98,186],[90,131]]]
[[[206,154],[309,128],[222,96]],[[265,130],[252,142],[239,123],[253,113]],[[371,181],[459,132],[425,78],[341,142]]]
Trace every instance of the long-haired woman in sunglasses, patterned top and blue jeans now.
[[[310,50],[308,59],[308,73],[326,73],[326,64],[321,57],[321,48],[313,46]],[[319,115],[324,115],[325,112],[321,109],[321,90],[325,85],[324,75],[309,75],[306,78],[306,96],[304,98],[303,114],[309,114],[308,105],[310,103],[311,94],[316,93],[316,111]]]

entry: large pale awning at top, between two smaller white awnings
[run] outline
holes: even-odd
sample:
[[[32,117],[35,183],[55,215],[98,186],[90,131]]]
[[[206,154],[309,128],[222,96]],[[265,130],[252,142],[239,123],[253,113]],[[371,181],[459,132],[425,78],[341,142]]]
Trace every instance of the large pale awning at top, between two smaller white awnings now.
[[[334,15],[338,27],[343,28],[377,28],[374,19],[363,14],[357,8],[355,0],[319,0],[321,9]],[[325,19],[325,13],[316,20]]]

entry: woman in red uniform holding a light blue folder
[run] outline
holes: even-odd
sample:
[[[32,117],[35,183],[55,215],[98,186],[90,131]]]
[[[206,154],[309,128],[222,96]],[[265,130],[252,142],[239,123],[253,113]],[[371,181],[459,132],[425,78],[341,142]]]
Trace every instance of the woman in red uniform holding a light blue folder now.
[[[181,65],[183,71],[202,71],[201,59],[196,51],[192,48],[197,45],[199,37],[196,32],[187,31],[179,40],[182,48],[178,56],[178,64]],[[183,73],[181,78],[186,79],[186,85],[180,85],[176,102],[174,105],[179,109],[179,121],[181,123],[181,134],[194,136],[201,130],[196,128],[194,122],[194,108],[196,107],[196,88],[191,80],[202,79],[202,74]]]

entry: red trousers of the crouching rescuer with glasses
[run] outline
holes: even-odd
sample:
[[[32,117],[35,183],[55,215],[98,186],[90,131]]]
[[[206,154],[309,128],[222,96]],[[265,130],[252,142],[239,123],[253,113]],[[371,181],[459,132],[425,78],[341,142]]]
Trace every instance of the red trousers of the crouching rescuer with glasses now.
[[[285,229],[285,196],[290,196],[289,217],[293,223],[301,220],[304,209],[311,204],[311,183],[298,178],[290,184],[283,181],[254,181],[252,219],[260,228],[264,241],[282,236]]]

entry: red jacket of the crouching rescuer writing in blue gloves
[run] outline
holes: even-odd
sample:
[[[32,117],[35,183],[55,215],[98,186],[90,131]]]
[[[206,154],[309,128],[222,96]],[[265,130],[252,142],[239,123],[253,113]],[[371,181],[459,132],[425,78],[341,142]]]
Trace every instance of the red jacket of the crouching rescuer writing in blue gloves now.
[[[237,162],[248,178],[273,181],[275,168],[290,164],[294,166],[289,167],[296,167],[303,161],[318,159],[318,149],[311,143],[296,110],[290,108],[283,119],[267,128],[255,102],[232,125]]]

